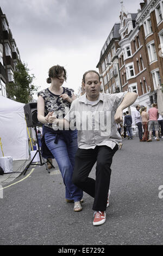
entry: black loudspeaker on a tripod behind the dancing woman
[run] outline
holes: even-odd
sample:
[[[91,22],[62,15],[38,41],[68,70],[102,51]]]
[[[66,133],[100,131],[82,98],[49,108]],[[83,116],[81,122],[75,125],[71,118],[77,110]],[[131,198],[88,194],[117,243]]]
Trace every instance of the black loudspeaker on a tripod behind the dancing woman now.
[[[28,127],[42,125],[42,123],[37,119],[37,102],[30,102],[26,104],[24,106],[24,113]]]

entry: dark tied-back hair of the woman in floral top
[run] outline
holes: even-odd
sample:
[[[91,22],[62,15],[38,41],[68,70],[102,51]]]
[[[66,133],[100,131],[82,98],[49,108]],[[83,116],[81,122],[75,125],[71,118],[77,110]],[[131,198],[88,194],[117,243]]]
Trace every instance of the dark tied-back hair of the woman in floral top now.
[[[64,68],[64,66],[59,66],[59,65],[56,65],[56,66],[52,66],[52,68],[49,69],[49,77],[47,78],[47,83],[51,83],[51,78],[59,78],[59,76],[62,74],[62,72],[64,71],[64,78],[65,78],[65,81],[67,79],[67,72]]]

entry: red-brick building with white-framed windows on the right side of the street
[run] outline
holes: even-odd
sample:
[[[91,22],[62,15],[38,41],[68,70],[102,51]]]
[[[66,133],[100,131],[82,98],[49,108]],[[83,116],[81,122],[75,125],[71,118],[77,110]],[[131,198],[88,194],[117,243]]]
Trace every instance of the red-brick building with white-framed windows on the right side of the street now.
[[[156,102],[156,87],[163,83],[163,0],[144,0],[140,7],[131,14],[121,2],[120,23],[115,23],[109,44],[106,40],[97,68],[106,93],[136,92],[135,105],[150,107]]]

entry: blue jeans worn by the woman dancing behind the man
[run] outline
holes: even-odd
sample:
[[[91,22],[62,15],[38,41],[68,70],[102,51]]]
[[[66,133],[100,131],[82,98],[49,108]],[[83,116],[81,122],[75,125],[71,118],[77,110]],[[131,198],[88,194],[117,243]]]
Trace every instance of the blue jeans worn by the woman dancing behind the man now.
[[[72,142],[69,145],[66,145],[62,136],[58,139],[58,144],[55,144],[55,135],[51,132],[45,133],[45,142],[58,163],[65,184],[66,199],[77,202],[83,197],[83,191],[72,183],[74,157],[78,149],[77,130],[70,131],[70,133]]]

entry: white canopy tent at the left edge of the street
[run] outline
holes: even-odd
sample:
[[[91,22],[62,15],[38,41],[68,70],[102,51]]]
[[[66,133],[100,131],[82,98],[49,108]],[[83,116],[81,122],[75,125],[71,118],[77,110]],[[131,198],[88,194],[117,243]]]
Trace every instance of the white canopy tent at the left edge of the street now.
[[[13,160],[29,159],[25,104],[0,95],[0,137],[4,156]],[[0,157],[2,157],[0,148]]]

